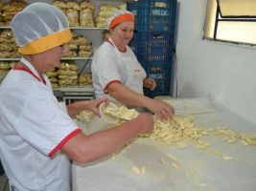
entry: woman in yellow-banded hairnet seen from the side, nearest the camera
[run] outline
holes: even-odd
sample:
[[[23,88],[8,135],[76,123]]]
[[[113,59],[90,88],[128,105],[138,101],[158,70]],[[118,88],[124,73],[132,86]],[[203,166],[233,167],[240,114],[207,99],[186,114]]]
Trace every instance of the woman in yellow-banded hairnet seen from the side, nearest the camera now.
[[[69,191],[70,159],[100,159],[151,132],[151,115],[141,114],[117,128],[82,134],[71,117],[82,110],[99,115],[97,107],[107,100],[76,102],[63,110],[53,95],[45,72],[69,53],[72,34],[65,14],[34,3],[11,25],[22,58],[0,85],[0,159],[13,191]]]

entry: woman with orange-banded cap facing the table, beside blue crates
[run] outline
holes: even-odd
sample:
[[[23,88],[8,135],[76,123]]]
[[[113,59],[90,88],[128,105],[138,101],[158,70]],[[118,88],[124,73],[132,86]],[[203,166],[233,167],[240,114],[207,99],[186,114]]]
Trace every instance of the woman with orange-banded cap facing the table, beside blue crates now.
[[[173,106],[143,95],[143,87],[155,88],[152,78],[128,47],[133,36],[134,15],[118,10],[108,19],[110,37],[96,51],[92,60],[92,81],[96,97],[109,97],[132,107],[147,108],[161,118],[174,115]]]

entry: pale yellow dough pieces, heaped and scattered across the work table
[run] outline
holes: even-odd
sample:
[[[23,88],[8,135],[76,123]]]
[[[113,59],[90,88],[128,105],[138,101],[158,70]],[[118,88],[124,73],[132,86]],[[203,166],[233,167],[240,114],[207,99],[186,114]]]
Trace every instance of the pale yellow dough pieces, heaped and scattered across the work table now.
[[[105,115],[110,114],[114,117],[123,117],[126,120],[120,119],[118,123],[127,121],[127,119],[132,119],[137,117],[139,113],[134,109],[128,109],[126,106],[122,105],[119,107],[106,107]],[[90,118],[93,117],[90,112],[82,112],[83,117],[86,117],[86,122],[89,122]],[[80,115],[79,120],[82,117]],[[204,128],[197,124],[194,117],[191,116],[174,116],[168,120],[162,120],[159,117],[153,116],[154,128],[151,134],[141,134],[138,138],[152,138],[161,144],[175,145],[178,148],[186,148],[189,144],[195,145],[198,149],[207,149],[210,153],[214,154],[223,160],[233,160],[232,156],[221,153],[216,148],[212,148],[210,142],[203,140],[205,136],[217,136],[222,138],[225,143],[235,143],[240,142],[243,145],[256,145],[256,135],[252,134],[241,134],[230,130],[227,127],[217,127],[217,128]],[[84,121],[84,120],[83,120]],[[179,170],[180,166],[178,164],[178,159],[175,155],[169,153],[168,157],[172,160],[172,167],[175,170]],[[112,159],[117,159],[116,154],[113,154]],[[166,165],[167,159],[160,158],[160,162]],[[136,175],[146,174],[146,165],[133,166],[131,170]],[[205,186],[204,183],[200,184]]]

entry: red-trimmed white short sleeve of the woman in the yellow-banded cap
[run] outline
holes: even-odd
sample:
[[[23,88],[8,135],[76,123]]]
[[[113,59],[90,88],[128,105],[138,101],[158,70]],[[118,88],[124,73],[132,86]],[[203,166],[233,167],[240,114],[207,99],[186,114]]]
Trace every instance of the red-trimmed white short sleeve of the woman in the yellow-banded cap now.
[[[56,97],[46,91],[27,99],[15,126],[22,138],[49,156],[58,152],[63,140],[68,141],[71,135],[80,132],[77,124],[58,105]]]

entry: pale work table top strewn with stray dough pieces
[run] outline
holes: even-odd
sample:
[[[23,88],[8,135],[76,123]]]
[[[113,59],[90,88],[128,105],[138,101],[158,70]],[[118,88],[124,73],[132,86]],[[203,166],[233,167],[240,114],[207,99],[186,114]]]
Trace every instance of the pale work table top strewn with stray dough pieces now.
[[[194,117],[205,128],[228,127],[235,132],[256,134],[252,124],[223,110]],[[96,119],[84,132],[95,131],[90,128],[96,126],[102,128],[101,123],[104,121]],[[216,135],[201,139],[210,146],[198,149],[191,144],[180,148],[151,138],[135,138],[105,159],[84,166],[73,164],[73,190],[256,190],[255,145],[245,146],[239,141],[226,143]],[[224,159],[224,156],[228,158]]]

